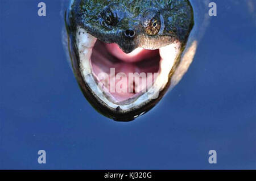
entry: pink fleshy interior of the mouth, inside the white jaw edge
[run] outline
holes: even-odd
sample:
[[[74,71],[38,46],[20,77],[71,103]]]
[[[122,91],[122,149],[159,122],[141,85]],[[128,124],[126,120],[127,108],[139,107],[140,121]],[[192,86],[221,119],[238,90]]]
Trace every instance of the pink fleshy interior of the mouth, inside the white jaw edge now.
[[[124,104],[154,84],[159,72],[159,50],[137,48],[126,54],[117,44],[96,41],[90,58],[92,73],[109,98]]]

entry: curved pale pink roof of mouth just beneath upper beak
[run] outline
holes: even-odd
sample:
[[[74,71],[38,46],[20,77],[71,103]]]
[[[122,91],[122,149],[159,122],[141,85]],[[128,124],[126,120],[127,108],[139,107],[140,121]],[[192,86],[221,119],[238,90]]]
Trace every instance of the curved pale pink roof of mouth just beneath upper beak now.
[[[153,57],[157,52],[152,50],[146,50],[143,48],[137,48],[131,53],[125,53],[119,48],[118,44],[106,44],[108,51],[119,60],[124,62],[138,62],[146,58]]]

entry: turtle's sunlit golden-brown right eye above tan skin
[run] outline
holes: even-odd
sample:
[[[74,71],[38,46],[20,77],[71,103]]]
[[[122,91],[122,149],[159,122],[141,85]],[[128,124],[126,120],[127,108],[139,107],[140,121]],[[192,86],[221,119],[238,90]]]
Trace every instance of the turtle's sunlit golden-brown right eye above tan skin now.
[[[161,21],[159,15],[146,14],[143,19],[143,27],[147,35],[155,36],[161,28]]]

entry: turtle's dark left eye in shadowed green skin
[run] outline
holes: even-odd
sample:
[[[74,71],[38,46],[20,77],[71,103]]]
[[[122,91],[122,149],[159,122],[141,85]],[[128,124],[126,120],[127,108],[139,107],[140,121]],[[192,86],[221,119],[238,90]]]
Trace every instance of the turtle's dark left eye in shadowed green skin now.
[[[118,16],[116,12],[106,9],[100,14],[100,23],[103,27],[112,29],[118,23]]]

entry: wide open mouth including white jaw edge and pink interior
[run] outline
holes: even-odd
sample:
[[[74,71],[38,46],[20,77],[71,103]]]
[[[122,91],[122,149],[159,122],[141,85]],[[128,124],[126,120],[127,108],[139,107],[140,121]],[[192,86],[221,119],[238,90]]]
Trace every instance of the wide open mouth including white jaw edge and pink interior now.
[[[128,110],[157,99],[166,87],[180,54],[180,42],[155,50],[137,48],[124,53],[78,27],[80,71],[93,95],[109,107]]]

